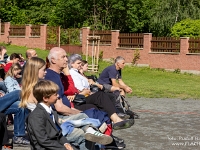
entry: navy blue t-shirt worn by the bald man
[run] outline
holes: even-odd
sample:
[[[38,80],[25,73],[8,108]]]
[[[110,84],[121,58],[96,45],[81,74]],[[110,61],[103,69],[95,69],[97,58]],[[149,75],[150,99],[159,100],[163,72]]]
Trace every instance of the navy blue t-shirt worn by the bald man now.
[[[60,78],[60,74],[58,74],[57,72],[51,69],[47,69],[46,71],[47,71],[47,74],[45,76],[45,79],[51,80],[58,85],[59,87],[58,94],[60,98],[62,99],[63,104],[71,108],[68,98],[64,95],[64,87]]]

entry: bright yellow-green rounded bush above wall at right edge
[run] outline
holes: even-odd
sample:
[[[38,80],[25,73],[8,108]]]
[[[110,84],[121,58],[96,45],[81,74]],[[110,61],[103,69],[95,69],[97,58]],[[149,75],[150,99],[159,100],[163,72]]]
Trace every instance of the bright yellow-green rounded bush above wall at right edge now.
[[[200,20],[185,19],[176,23],[171,29],[171,35],[175,37],[199,37]]]

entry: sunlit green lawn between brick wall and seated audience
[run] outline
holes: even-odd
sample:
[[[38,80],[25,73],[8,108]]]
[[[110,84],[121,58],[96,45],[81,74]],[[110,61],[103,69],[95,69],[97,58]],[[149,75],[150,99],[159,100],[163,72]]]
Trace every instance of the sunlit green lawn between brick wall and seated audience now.
[[[9,45],[8,54],[13,52],[22,53],[28,48]],[[46,58],[48,51],[36,49],[38,57]],[[98,74],[111,63],[100,61]],[[193,74],[180,74],[179,71],[167,72],[163,69],[150,69],[147,67],[125,66],[122,77],[132,89],[133,93],[129,96],[148,97],[148,98],[181,98],[181,99],[200,99],[200,76]]]

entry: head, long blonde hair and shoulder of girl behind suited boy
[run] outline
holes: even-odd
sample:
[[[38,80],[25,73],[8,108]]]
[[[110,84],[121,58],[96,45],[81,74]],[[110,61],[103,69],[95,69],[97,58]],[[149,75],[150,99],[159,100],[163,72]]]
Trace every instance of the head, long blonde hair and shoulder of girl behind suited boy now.
[[[20,107],[28,108],[33,111],[37,100],[33,96],[33,87],[39,79],[44,79],[46,74],[46,63],[43,59],[32,57],[25,65],[21,84],[21,102]]]

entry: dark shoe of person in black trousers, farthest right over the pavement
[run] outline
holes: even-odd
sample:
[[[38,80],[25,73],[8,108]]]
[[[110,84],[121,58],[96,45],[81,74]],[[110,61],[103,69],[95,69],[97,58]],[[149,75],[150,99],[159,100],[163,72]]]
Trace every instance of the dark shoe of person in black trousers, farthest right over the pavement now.
[[[113,124],[114,130],[130,128],[134,124],[134,119],[127,119]]]

